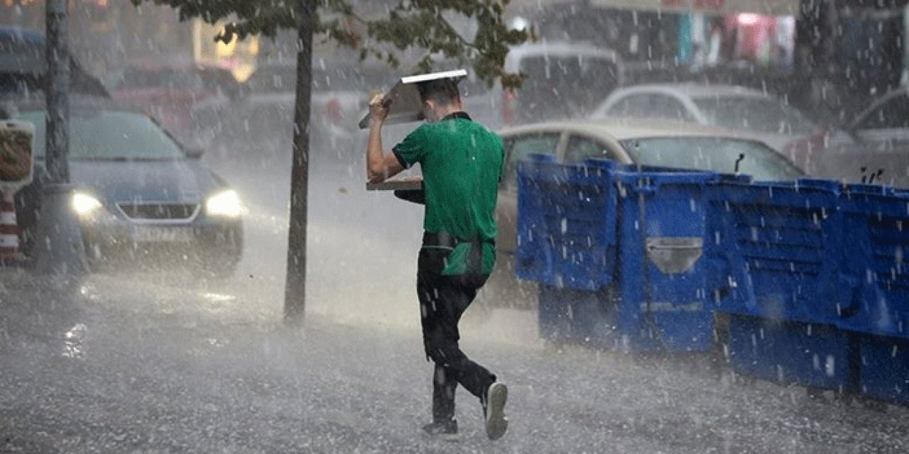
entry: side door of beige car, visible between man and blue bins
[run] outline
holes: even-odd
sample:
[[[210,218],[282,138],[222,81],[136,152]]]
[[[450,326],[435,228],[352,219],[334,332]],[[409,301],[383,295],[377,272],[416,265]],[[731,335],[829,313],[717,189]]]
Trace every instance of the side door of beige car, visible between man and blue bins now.
[[[495,222],[499,235],[496,249],[514,254],[517,249],[517,164],[530,154],[559,155],[560,132],[518,133],[504,137],[505,163],[499,199],[495,206]]]

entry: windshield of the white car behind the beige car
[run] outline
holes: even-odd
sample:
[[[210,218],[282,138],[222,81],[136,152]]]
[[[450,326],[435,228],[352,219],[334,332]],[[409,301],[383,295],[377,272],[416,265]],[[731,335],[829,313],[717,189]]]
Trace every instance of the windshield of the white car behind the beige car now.
[[[694,98],[707,120],[737,130],[806,135],[817,125],[802,113],[773,98],[759,96],[714,96]]]

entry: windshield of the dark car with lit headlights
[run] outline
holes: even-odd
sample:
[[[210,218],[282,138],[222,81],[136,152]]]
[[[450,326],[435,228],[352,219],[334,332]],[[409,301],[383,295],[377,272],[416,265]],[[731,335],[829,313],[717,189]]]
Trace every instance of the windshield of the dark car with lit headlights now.
[[[44,111],[18,118],[35,124],[35,156],[45,154]],[[74,109],[70,114],[69,157],[97,161],[164,161],[185,158],[175,141],[144,114]]]

